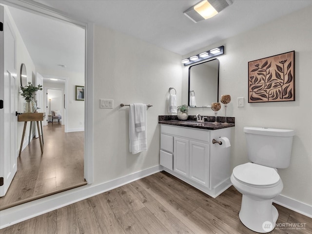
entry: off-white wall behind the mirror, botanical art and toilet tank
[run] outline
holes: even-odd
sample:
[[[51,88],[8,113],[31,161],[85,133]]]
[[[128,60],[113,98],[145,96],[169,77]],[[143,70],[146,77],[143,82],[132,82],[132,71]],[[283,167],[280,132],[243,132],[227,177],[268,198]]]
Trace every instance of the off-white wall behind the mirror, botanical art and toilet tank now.
[[[230,94],[228,116],[235,117],[232,168],[248,161],[244,126],[294,129],[291,165],[279,169],[282,195],[312,205],[312,7],[254,28],[233,38],[202,48],[190,55],[225,46],[220,60],[220,95]],[[295,101],[248,103],[248,62],[295,51]],[[188,55],[183,58],[189,57]],[[183,68],[183,101],[187,102],[187,67]],[[237,107],[237,98],[245,107]],[[224,115],[224,109],[220,114]],[[213,115],[210,109],[192,109],[189,114]]]

